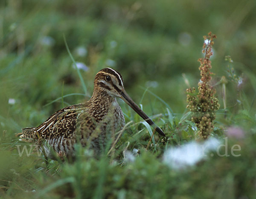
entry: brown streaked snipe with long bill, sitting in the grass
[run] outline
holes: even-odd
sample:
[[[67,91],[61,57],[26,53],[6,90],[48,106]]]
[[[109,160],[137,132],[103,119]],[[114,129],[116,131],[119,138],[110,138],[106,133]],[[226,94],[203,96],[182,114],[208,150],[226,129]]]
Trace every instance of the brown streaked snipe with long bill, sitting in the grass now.
[[[95,76],[93,95],[89,101],[64,107],[52,114],[38,127],[26,127],[18,133],[21,141],[41,143],[51,157],[74,156],[74,145],[78,142],[99,154],[109,140],[125,126],[124,114],[116,101],[121,98],[161,136],[163,131],[138,107],[125,92],[122,75],[114,69],[101,69]]]

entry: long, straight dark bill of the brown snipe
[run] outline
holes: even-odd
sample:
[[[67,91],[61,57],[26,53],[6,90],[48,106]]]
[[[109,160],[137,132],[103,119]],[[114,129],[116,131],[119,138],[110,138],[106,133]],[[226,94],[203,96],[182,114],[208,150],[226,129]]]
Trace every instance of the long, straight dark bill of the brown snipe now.
[[[158,127],[149,117],[148,115],[145,114],[145,112],[143,112],[143,110],[140,109],[140,107],[138,107],[137,104],[135,104],[135,102],[130,98],[130,96],[125,92],[125,90],[122,90],[121,92],[121,98],[123,101],[125,101],[126,104],[128,104],[135,112],[138,113],[138,115],[140,115],[140,117],[142,117],[150,126],[152,126],[157,133],[159,133],[161,136],[165,136],[165,134],[163,133],[163,131],[160,129],[160,127]]]

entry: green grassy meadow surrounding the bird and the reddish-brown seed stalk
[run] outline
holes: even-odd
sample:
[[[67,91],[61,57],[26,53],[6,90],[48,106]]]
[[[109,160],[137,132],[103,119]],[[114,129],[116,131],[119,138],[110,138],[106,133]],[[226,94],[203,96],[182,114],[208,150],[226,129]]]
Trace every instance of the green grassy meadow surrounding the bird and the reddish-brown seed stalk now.
[[[255,198],[255,6],[254,0],[0,1],[0,197]],[[197,60],[209,31],[218,39],[206,57],[215,74],[207,88],[216,89],[210,95],[220,107],[216,102],[202,141],[186,89],[198,85]],[[115,150],[96,159],[77,145],[75,162],[47,165],[15,134],[88,100],[105,66],[122,74],[128,94],[168,139],[151,137],[152,129],[119,100],[128,128]],[[213,138],[217,147],[198,151]]]

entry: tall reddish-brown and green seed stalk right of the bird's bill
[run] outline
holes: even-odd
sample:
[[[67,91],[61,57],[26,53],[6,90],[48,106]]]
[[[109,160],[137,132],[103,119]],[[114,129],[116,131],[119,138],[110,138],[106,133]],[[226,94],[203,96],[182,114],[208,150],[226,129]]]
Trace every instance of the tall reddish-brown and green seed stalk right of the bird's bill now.
[[[204,36],[203,53],[205,58],[199,58],[199,70],[201,79],[198,83],[198,94],[195,96],[195,88],[187,89],[187,108],[193,112],[192,121],[198,127],[198,134],[207,139],[213,130],[213,121],[216,118],[215,112],[219,109],[218,98],[215,97],[216,89],[210,85],[213,73],[211,72],[210,57],[212,53],[213,39],[216,38],[209,32],[208,37]]]

